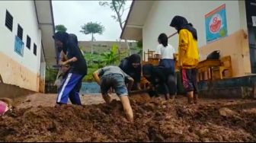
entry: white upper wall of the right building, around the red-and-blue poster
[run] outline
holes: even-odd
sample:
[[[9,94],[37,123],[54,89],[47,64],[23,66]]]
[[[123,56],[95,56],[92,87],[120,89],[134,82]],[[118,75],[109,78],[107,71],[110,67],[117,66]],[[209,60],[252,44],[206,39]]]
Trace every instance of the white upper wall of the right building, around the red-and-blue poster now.
[[[228,35],[239,29],[245,29],[244,3],[238,1],[156,1],[143,27],[143,50],[155,50],[160,33],[166,33],[169,36],[177,31],[169,26],[175,15],[184,16],[188,22],[194,24],[197,29],[198,46],[206,45],[204,15],[223,4],[226,4]],[[171,37],[168,42],[177,50],[178,34]]]

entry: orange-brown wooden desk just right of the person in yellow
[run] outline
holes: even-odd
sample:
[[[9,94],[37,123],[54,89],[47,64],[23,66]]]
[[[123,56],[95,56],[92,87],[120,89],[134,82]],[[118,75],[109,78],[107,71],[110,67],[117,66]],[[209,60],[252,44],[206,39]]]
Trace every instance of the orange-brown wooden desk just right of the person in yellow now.
[[[213,72],[212,67],[220,66],[219,59],[206,59],[198,63],[197,70],[197,81],[212,80]],[[206,75],[205,75],[206,74]]]

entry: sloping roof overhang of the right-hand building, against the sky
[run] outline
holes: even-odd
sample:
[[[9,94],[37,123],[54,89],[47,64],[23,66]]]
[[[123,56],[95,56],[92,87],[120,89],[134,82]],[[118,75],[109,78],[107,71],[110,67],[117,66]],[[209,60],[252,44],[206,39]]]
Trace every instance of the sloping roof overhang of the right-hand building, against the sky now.
[[[154,1],[134,1],[130,7],[120,39],[142,40],[142,28]]]

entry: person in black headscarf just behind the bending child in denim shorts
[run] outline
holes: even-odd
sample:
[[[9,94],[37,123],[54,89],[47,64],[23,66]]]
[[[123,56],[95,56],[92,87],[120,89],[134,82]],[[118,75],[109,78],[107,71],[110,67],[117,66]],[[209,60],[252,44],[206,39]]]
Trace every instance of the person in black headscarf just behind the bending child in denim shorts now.
[[[127,74],[130,75],[133,80],[132,90],[141,90],[140,88],[140,78],[141,78],[141,63],[139,54],[133,54],[126,57],[120,62],[119,67]]]

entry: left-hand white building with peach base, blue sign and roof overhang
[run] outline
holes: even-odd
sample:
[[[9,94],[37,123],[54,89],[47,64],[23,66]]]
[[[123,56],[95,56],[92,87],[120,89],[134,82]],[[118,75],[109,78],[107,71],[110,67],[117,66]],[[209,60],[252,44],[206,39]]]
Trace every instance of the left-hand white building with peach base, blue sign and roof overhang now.
[[[0,75],[5,84],[44,91],[56,65],[53,8],[46,1],[0,1]]]

